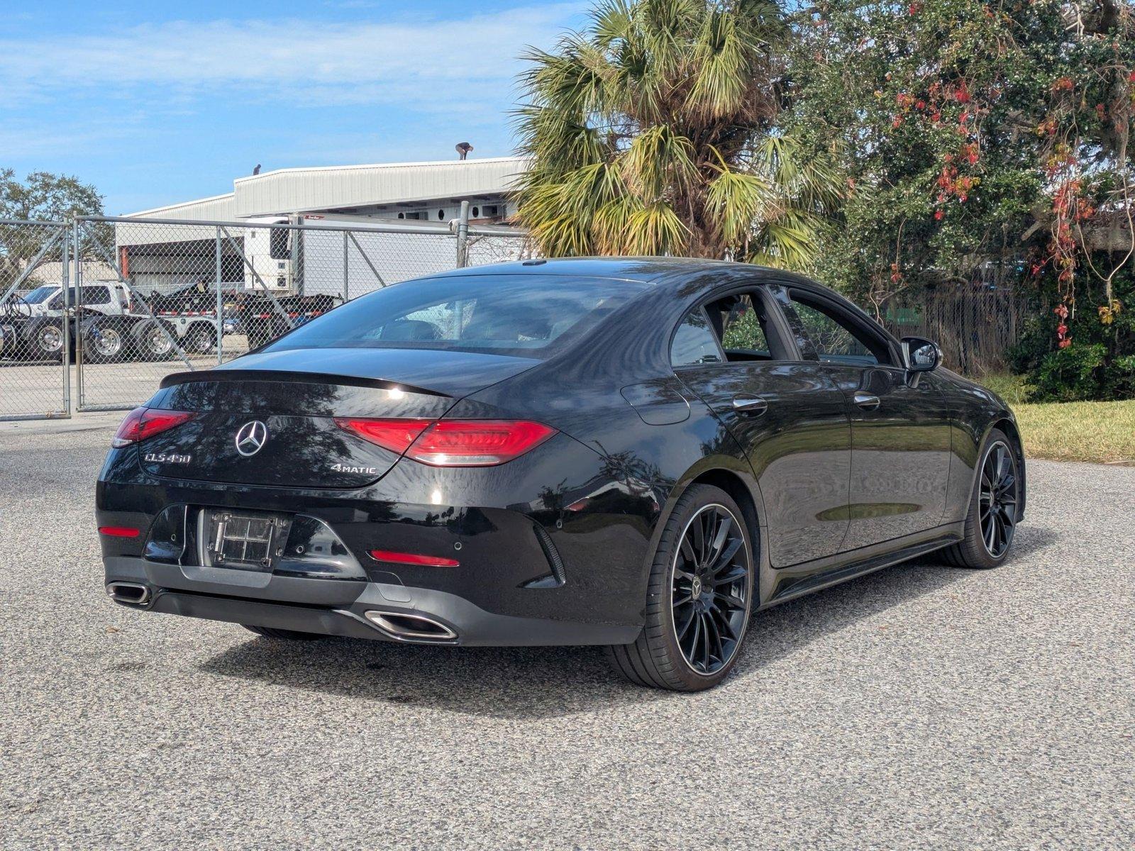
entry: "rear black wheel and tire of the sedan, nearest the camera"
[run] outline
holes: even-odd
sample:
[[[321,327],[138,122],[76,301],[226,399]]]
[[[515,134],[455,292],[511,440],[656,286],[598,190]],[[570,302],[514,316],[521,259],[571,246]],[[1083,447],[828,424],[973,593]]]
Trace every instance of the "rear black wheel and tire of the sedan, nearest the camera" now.
[[[697,541],[706,540],[708,529],[709,548],[699,550]],[[737,663],[748,631],[755,564],[753,538],[737,503],[720,488],[691,486],[658,539],[641,634],[632,644],[606,649],[614,669],[632,683],[657,689],[717,685]]]

